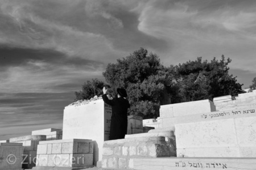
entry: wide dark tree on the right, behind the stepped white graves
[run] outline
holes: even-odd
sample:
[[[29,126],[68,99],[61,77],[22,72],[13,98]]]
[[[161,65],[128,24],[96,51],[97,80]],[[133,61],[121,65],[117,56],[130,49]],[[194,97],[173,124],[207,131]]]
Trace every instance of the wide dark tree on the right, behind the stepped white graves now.
[[[196,101],[214,97],[242,93],[241,84],[236,77],[229,75],[228,64],[231,60],[225,60],[222,55],[218,61],[214,57],[208,62],[198,57],[195,61],[179,64],[175,67],[175,77],[180,89],[180,101]]]

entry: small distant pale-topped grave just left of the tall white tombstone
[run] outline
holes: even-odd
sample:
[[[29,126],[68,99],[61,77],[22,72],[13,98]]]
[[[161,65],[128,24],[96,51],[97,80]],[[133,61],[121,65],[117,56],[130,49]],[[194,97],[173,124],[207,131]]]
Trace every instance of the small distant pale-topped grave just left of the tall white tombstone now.
[[[42,130],[35,130],[32,131],[32,135],[46,135],[46,140],[59,140],[62,139],[62,129],[47,128]]]

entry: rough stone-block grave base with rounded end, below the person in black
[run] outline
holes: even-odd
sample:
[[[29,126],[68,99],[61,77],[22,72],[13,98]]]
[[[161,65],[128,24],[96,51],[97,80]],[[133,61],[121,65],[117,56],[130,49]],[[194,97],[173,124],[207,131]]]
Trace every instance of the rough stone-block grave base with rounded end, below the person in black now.
[[[163,136],[104,142],[102,168],[131,168],[135,157],[168,157],[171,148]]]

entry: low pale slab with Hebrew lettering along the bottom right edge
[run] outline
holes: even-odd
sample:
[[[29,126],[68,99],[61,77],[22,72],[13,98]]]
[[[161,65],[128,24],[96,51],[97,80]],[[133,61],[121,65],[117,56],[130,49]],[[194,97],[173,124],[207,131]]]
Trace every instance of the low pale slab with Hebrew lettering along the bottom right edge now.
[[[228,169],[255,170],[256,157],[154,157],[134,158],[136,170],[189,170],[189,169]]]

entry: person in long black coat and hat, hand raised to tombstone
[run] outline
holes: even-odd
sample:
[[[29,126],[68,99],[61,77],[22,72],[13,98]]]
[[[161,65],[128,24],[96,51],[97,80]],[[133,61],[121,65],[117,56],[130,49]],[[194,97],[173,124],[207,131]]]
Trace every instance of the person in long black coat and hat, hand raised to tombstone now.
[[[123,139],[127,132],[127,110],[130,107],[125,89],[117,89],[117,98],[108,99],[106,96],[107,89],[103,89],[103,100],[108,105],[112,106],[112,117],[110,123],[110,137],[109,140]]]

